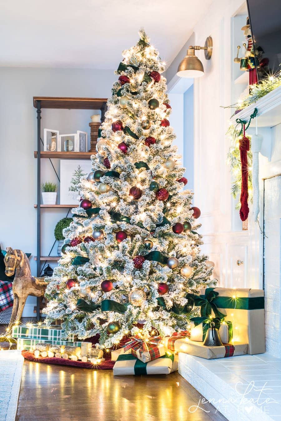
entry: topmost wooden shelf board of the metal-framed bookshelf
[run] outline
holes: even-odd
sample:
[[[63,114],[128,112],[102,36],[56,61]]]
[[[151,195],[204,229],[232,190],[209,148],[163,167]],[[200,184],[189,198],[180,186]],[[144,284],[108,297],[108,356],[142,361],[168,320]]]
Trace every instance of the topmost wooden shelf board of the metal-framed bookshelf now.
[[[55,96],[34,96],[33,107],[37,108],[37,101],[41,101],[41,108],[65,109],[101,109],[107,98],[65,98]]]

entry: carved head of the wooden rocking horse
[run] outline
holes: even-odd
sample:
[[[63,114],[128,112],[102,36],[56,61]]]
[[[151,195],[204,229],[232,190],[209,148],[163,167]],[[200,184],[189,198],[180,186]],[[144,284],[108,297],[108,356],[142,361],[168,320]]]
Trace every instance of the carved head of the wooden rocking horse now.
[[[30,265],[27,255],[21,250],[13,250],[12,247],[7,247],[7,253],[4,258],[5,274],[12,276],[16,272],[16,276],[23,276],[30,274]]]

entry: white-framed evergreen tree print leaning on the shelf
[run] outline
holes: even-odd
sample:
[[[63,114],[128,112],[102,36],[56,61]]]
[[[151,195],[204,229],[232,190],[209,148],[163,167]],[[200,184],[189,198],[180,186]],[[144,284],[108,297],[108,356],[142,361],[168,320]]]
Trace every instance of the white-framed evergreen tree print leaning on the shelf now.
[[[75,187],[92,171],[92,161],[62,159],[60,165],[60,204],[77,205],[81,192]]]

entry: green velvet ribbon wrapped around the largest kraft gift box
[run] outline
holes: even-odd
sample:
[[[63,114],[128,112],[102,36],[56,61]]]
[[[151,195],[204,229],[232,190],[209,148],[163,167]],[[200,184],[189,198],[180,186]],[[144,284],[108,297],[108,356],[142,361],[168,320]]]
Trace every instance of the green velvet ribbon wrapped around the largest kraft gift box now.
[[[265,298],[264,297],[223,297],[219,296],[217,291],[214,291],[215,288],[206,288],[205,295],[199,296],[200,298],[205,298],[211,293],[216,293],[215,297],[212,300],[212,303],[220,309],[239,309],[239,310],[258,310],[265,308]],[[196,304],[201,305],[201,304]],[[202,314],[204,315],[204,314]],[[209,315],[209,314],[207,314]],[[225,317],[225,314],[223,315]]]

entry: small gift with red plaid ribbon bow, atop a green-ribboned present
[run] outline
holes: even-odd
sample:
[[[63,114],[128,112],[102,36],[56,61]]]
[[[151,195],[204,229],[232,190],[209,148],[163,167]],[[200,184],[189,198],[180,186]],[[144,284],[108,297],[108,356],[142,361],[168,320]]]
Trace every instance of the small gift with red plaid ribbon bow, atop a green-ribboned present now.
[[[129,341],[126,342],[124,352],[131,349],[132,355],[142,362],[156,360],[156,358],[165,355],[165,348],[161,342],[161,336],[154,336],[145,341],[138,336],[132,336]]]

